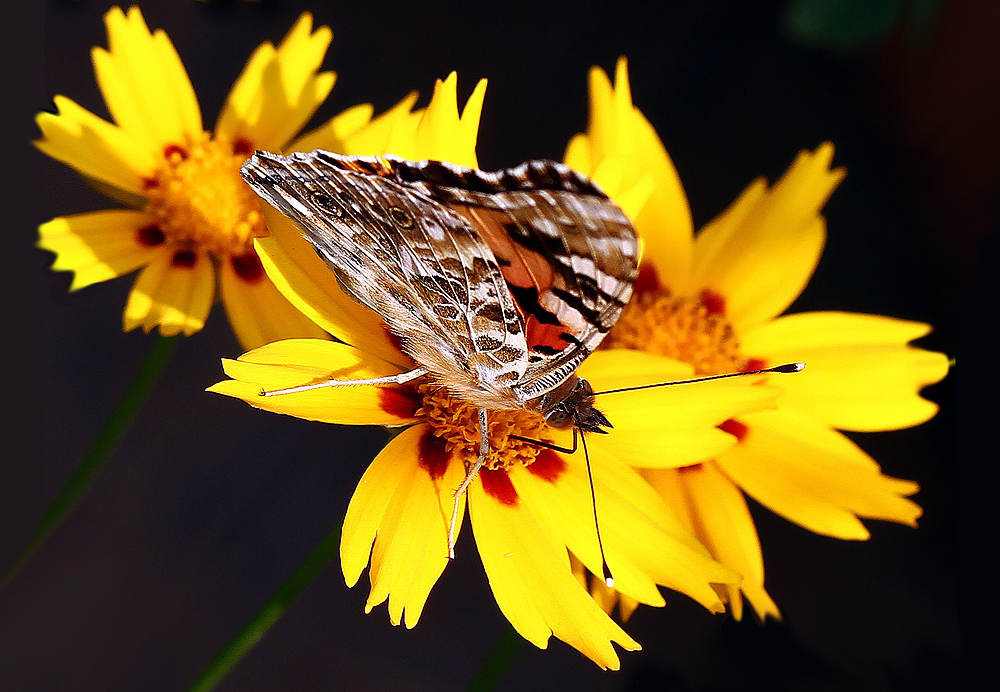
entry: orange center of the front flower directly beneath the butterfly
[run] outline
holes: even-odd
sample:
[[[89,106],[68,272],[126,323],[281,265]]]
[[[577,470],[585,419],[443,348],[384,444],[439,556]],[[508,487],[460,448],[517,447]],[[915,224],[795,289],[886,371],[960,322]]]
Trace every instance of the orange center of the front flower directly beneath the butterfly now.
[[[479,459],[479,409],[452,397],[442,387],[432,384],[416,385],[423,397],[417,411],[431,426],[436,437],[444,441],[445,449],[454,452],[471,468]],[[529,466],[545,448],[512,435],[529,440],[547,441],[548,426],[545,420],[531,411],[491,410],[487,423],[490,451],[483,468],[498,471],[516,464]]]

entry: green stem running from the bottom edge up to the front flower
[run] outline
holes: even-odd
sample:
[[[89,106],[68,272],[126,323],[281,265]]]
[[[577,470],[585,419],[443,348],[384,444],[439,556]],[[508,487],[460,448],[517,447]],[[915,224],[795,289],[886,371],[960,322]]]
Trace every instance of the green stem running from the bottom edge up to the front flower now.
[[[264,607],[248,622],[226,647],[216,654],[201,671],[197,679],[188,688],[188,692],[209,692],[214,690],[232,668],[243,660],[243,657],[264,638],[288,606],[312,583],[316,575],[326,567],[327,563],[337,554],[340,546],[340,532],[343,522],[326,535],[305,562],[281,585],[281,588],[264,604]]]

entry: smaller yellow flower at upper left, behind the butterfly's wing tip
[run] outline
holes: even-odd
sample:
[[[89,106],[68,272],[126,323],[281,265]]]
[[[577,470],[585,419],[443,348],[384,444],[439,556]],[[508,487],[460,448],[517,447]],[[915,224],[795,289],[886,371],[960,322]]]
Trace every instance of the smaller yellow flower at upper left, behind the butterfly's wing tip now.
[[[123,315],[126,331],[165,336],[200,330],[218,294],[245,348],[322,336],[265,275],[253,239],[265,232],[239,167],[254,149],[289,144],[333,88],[318,72],[328,27],[303,14],[277,47],[257,48],[233,85],[213,132],[202,126],[191,82],[163,31],[150,32],[137,7],[104,17],[108,48],[94,48],[94,72],[113,122],[56,96],[57,113],[37,116],[35,144],[130,209],[53,219],[39,247],[53,269],[74,272],[70,290],[142,269]],[[304,138],[335,149],[366,124],[370,106],[335,117]]]

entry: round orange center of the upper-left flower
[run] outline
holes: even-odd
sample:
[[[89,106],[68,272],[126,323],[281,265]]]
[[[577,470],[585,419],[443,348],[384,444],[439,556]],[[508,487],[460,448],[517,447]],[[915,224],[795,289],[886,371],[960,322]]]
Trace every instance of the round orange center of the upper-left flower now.
[[[146,211],[159,219],[167,241],[215,257],[242,256],[265,235],[260,206],[240,178],[249,145],[204,132],[184,146],[170,145],[163,165],[146,181]]]

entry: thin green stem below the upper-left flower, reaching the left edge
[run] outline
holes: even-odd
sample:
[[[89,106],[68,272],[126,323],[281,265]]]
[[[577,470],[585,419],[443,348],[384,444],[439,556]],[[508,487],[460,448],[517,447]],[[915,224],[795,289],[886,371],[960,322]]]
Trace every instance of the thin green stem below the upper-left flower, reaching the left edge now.
[[[62,490],[59,491],[59,494],[56,495],[55,499],[45,509],[45,513],[42,514],[42,518],[38,522],[35,533],[32,534],[27,547],[21,552],[21,555],[10,570],[8,570],[7,574],[4,575],[3,580],[0,581],[0,589],[5,587],[14,578],[14,575],[28,561],[28,558],[31,557],[38,546],[49,537],[56,527],[62,523],[63,519],[76,507],[80,498],[83,497],[83,494],[90,487],[94,476],[100,471],[105,460],[110,456],[111,451],[118,443],[118,440],[121,439],[122,434],[128,429],[135,414],[142,407],[153,385],[156,384],[160,373],[163,372],[163,368],[170,359],[170,354],[173,352],[178,338],[176,336],[161,336],[157,337],[156,341],[153,342],[153,346],[146,355],[146,360],[139,367],[139,372],[136,374],[135,379],[132,380],[132,384],[129,385],[125,394],[118,401],[108,421],[97,434],[90,448],[83,455],[83,459],[80,460],[73,474],[63,485]]]

